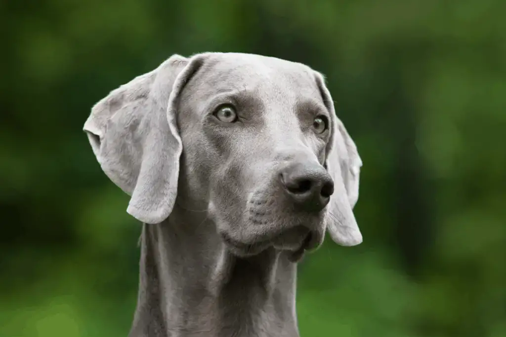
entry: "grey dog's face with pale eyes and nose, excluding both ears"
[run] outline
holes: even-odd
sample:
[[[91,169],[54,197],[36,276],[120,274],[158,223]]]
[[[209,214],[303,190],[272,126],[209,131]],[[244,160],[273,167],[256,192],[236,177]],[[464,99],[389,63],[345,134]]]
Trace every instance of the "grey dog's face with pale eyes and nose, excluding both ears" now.
[[[330,112],[314,72],[272,58],[218,55],[181,93],[183,180],[208,198],[231,249],[297,251],[323,240],[333,180]]]

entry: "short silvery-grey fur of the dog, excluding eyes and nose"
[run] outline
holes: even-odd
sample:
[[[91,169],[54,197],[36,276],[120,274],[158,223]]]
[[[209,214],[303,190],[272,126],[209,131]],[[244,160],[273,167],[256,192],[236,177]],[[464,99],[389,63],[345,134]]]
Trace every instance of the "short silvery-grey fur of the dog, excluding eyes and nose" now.
[[[211,114],[223,103],[239,122]],[[330,120],[322,134],[311,129],[318,114]],[[362,162],[308,66],[174,55],[110,92],[84,129],[105,174],[131,196],[127,212],[144,223],[130,337],[299,336],[294,262],[325,230],[343,246],[362,242],[352,212]],[[294,160],[326,165],[334,181],[318,214],[294,208],[278,186]]]

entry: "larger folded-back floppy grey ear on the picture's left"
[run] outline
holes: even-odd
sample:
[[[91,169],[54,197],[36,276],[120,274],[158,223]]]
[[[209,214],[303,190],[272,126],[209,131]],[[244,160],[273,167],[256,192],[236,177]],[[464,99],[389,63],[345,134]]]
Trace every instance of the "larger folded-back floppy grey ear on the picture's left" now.
[[[126,211],[160,223],[176,202],[183,150],[176,123],[180,93],[205,55],[174,55],[111,91],[84,125],[105,174],[131,196]]]

